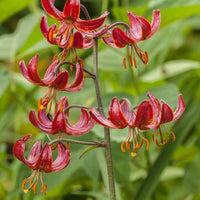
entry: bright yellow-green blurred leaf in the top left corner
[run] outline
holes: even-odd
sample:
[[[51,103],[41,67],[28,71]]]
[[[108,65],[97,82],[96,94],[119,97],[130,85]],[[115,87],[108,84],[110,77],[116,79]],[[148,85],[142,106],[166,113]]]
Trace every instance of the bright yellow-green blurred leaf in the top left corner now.
[[[16,14],[20,10],[28,6],[32,1],[35,0],[1,0],[0,1],[0,23],[9,18],[10,16]]]

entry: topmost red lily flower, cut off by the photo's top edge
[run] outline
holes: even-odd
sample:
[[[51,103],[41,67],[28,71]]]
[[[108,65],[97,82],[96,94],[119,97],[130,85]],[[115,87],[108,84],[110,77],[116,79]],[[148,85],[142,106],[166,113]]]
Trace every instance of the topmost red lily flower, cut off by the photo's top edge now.
[[[67,0],[63,12],[54,6],[55,0],[42,0],[44,10],[53,18],[61,22],[58,28],[58,34],[65,32],[71,33],[74,27],[78,31],[94,31],[97,30],[105,21],[109,12],[104,12],[97,19],[82,20],[80,16],[80,0]]]

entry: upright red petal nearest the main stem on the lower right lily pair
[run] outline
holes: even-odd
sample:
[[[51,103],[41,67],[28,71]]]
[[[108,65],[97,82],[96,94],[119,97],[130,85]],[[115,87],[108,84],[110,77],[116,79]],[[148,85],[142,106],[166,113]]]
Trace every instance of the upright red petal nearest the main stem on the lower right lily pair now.
[[[113,100],[111,101],[108,115],[109,115],[110,121],[116,126],[125,128],[126,126],[129,125],[128,121],[126,120],[122,112],[121,105],[116,97],[113,98]]]

